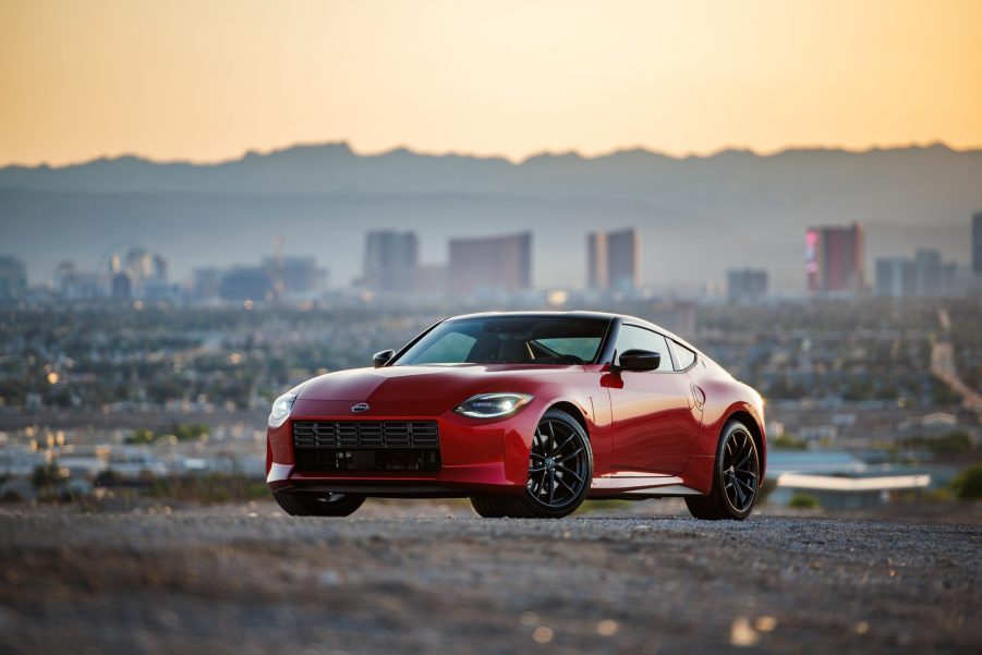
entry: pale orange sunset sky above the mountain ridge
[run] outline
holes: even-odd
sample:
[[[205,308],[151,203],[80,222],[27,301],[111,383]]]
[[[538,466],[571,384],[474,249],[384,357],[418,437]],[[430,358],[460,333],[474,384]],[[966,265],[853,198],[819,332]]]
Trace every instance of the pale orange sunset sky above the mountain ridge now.
[[[982,1],[2,0],[0,166],[982,146]]]

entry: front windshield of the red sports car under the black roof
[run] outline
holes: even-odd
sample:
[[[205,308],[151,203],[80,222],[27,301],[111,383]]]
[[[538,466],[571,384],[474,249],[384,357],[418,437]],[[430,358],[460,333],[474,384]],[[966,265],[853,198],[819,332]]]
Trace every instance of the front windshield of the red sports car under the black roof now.
[[[395,366],[420,364],[587,364],[608,322],[601,318],[496,316],[436,326]]]

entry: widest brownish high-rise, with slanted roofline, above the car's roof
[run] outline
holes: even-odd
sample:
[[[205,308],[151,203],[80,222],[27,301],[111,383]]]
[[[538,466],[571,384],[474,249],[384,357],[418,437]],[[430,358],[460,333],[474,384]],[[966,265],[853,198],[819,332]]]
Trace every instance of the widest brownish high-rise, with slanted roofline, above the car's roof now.
[[[450,240],[450,291],[514,292],[532,288],[532,233]]]

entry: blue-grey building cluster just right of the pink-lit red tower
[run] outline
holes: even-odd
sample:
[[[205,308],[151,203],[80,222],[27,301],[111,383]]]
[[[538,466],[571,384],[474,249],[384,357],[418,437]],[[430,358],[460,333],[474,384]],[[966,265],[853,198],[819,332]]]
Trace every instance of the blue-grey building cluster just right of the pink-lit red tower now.
[[[919,250],[913,259],[876,259],[876,295],[882,298],[944,298],[956,294],[956,266],[941,253]]]

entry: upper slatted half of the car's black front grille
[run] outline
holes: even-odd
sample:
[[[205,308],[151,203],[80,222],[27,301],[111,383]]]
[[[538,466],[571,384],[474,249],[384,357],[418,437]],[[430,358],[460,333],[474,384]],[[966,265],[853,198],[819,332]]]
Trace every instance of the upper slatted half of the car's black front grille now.
[[[439,448],[436,421],[294,421],[294,448]]]

